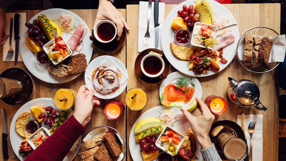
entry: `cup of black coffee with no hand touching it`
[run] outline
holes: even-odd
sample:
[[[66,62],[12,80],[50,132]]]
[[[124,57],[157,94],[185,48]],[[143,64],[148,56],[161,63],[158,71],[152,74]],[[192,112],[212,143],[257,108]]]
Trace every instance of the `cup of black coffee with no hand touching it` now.
[[[164,69],[165,62],[157,54],[147,54],[141,60],[141,70],[148,77],[162,76],[165,79],[167,76],[163,73]]]

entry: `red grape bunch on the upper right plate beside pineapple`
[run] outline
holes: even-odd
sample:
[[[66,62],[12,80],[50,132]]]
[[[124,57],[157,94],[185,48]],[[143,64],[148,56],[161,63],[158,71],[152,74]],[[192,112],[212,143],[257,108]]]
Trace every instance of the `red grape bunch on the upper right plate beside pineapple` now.
[[[199,19],[201,17],[201,14],[196,13],[194,5],[190,5],[189,8],[187,7],[187,5],[183,5],[183,10],[179,10],[178,15],[184,18],[183,21],[187,23],[187,27],[189,27],[190,31],[193,31],[194,24],[196,22],[200,22]]]

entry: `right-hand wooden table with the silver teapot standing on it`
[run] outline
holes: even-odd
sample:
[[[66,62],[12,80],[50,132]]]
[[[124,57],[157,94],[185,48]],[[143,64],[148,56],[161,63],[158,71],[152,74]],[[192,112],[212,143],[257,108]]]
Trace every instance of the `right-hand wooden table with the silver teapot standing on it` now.
[[[165,5],[165,17],[176,5]],[[224,4],[224,6],[234,15],[237,21],[240,35],[255,26],[266,26],[274,29],[280,33],[280,4]],[[139,87],[142,88],[148,97],[146,107],[141,111],[127,110],[127,143],[129,141],[129,134],[136,119],[148,109],[161,105],[159,99],[160,83],[148,84],[137,77],[134,62],[136,60],[138,51],[138,19],[139,19],[139,5],[127,5],[127,24],[130,27],[127,35],[127,71],[129,81],[127,90]],[[268,12],[265,12],[268,11]],[[137,53],[137,54],[136,54]],[[131,65],[129,65],[131,64]],[[175,72],[176,69],[171,68],[170,73]],[[263,115],[263,160],[278,160],[278,109],[279,109],[279,85],[277,78],[277,71],[271,71],[265,74],[255,74],[247,71],[239,63],[238,59],[234,57],[227,68],[221,72],[208,76],[198,77],[202,85],[202,100],[210,94],[216,94],[227,98],[227,88],[229,82],[227,77],[239,79],[249,79],[255,82],[261,93],[260,100],[268,108],[265,112],[258,111],[254,107],[251,108],[237,108],[234,103],[227,99],[228,110],[225,114],[216,116],[215,121],[227,119],[236,122],[236,115],[245,114],[262,114]],[[192,112],[195,116],[199,116],[200,112],[195,110]],[[132,138],[133,139],[133,138]],[[133,150],[133,149],[129,149]],[[129,152],[128,150],[128,152]],[[139,150],[139,149],[135,149]],[[128,153],[127,160],[132,160],[130,153]],[[134,160],[135,161],[135,160]]]

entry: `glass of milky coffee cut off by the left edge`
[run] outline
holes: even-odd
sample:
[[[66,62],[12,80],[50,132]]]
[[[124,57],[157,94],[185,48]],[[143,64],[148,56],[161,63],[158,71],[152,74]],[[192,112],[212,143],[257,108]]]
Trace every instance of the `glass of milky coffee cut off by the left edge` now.
[[[0,78],[0,98],[13,96],[21,91],[21,81],[10,78]]]

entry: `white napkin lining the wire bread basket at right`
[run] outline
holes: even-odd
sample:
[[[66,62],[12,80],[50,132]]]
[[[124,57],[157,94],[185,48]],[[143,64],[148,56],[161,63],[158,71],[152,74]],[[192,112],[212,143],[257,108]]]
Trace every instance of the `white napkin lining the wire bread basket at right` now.
[[[254,36],[254,35],[253,35]],[[261,37],[261,36],[259,36]],[[261,37],[263,38],[263,37]],[[278,35],[273,38],[269,37],[269,40],[273,42],[272,49],[270,51],[270,57],[268,63],[272,62],[283,62],[285,57],[286,50],[286,39],[285,35]],[[242,37],[242,41],[238,44],[238,56],[241,61],[244,61],[244,36]]]

